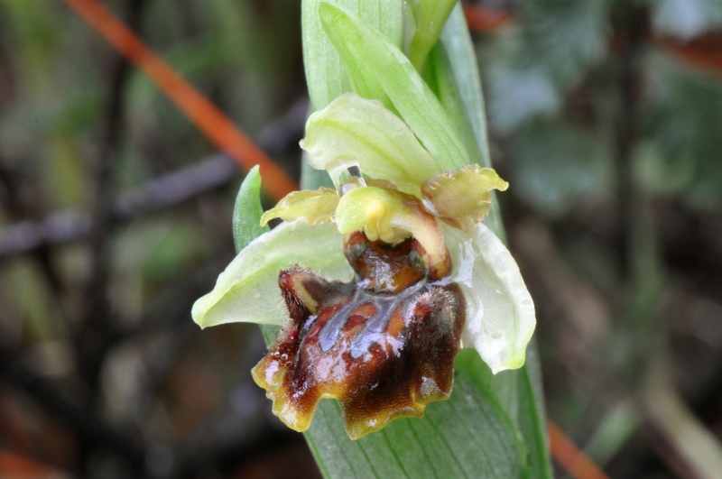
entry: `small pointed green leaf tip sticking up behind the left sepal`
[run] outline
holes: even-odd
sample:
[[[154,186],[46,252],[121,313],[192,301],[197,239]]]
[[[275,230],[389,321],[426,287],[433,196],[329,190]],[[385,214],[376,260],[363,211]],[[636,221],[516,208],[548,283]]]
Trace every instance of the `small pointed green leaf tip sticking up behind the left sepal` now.
[[[236,253],[240,253],[255,238],[269,231],[268,226],[260,225],[263,214],[261,173],[256,165],[245,175],[238,190],[236,206],[233,208],[233,239],[236,243]]]

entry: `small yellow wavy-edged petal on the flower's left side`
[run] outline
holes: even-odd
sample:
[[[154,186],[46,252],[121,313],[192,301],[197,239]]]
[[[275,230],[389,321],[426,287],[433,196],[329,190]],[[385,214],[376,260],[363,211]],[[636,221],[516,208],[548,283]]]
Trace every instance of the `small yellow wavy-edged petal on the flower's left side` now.
[[[336,189],[292,191],[279,201],[278,205],[261,216],[261,225],[265,225],[273,218],[282,218],[284,221],[304,218],[310,225],[330,223],[331,215],[336,211],[337,206]]]

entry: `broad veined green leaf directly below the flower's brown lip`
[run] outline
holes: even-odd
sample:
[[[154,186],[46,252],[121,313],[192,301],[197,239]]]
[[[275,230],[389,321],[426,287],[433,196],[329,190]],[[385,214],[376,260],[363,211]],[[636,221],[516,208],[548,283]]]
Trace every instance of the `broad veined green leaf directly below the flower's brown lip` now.
[[[476,355],[476,354],[474,354]],[[462,360],[467,355],[459,353]],[[525,449],[494,395],[458,368],[449,401],[352,441],[336,401],[321,401],[306,437],[325,477],[523,477]]]

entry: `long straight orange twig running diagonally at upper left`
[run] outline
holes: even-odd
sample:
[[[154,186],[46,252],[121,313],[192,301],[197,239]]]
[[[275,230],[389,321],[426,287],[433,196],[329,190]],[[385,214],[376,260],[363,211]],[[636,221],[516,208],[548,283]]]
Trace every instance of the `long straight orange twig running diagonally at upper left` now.
[[[127,60],[142,69],[171,100],[188,115],[220,150],[227,152],[244,170],[261,166],[264,188],[281,199],[298,185],[243,134],[217,106],[180,77],[158,55],[150,51],[134,32],[97,0],[65,0]]]

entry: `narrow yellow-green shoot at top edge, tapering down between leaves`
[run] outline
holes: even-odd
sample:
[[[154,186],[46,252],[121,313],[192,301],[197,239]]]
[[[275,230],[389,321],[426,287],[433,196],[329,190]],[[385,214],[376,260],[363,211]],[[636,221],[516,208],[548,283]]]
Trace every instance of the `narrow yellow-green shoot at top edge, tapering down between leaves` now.
[[[409,45],[409,60],[418,71],[421,71],[431,47],[434,46],[441,32],[441,27],[451,13],[457,0],[409,0],[416,32],[413,32]]]

